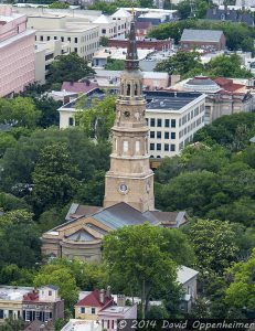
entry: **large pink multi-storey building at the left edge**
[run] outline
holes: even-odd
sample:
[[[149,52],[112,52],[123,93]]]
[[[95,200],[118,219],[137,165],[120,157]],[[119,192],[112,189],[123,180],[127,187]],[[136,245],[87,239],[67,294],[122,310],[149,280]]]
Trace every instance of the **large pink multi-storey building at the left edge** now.
[[[20,93],[34,82],[34,31],[26,15],[0,4],[0,97]]]

